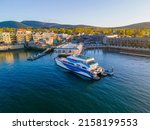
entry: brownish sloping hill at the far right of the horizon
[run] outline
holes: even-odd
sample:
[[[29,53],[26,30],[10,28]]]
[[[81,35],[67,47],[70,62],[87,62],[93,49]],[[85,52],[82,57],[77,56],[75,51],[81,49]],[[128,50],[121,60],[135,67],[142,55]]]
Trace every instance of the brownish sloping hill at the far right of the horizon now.
[[[131,24],[131,25],[117,27],[117,28],[131,28],[131,29],[150,28],[150,22],[136,23],[136,24]]]

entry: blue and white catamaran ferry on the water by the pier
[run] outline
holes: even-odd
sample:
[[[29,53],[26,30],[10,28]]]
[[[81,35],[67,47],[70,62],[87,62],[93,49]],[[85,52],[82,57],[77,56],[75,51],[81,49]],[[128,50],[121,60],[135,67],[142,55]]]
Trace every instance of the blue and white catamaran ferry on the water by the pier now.
[[[84,55],[58,56],[55,61],[58,66],[90,79],[100,79],[105,71],[94,58]]]

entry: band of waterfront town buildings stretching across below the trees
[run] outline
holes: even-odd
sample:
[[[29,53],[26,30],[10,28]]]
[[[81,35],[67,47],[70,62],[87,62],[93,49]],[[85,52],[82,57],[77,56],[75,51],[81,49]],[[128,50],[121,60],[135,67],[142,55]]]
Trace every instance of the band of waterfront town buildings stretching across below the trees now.
[[[31,42],[32,41],[32,42]],[[16,32],[0,32],[0,44],[24,44],[59,45],[67,42],[84,44],[105,44],[129,47],[150,47],[150,38],[121,37],[118,35],[91,34],[69,35],[54,32],[31,32],[27,29],[18,29]]]

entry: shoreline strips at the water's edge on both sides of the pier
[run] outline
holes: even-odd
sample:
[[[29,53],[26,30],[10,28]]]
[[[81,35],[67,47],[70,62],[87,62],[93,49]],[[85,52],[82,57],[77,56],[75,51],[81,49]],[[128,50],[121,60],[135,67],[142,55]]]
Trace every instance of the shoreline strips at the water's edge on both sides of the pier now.
[[[43,51],[46,48],[40,48],[35,46],[24,46],[21,45],[4,45],[0,46],[0,52],[9,52],[9,51],[16,51],[22,49],[29,49],[29,50],[37,50]],[[121,46],[109,46],[109,45],[86,45],[83,50],[86,49],[103,49],[106,51],[116,52],[125,55],[134,55],[134,56],[141,56],[141,57],[148,57],[150,58],[150,49],[145,48],[133,48],[133,47],[121,47]]]

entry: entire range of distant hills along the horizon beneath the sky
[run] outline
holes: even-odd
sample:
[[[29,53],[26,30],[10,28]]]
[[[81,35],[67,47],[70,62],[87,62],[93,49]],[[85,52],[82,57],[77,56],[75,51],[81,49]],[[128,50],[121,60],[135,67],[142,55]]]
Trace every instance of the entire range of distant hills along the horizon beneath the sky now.
[[[48,23],[48,22],[40,22],[40,21],[4,21],[0,22],[0,28],[76,28],[76,27],[93,27],[93,28],[104,28],[104,27],[94,27],[89,25],[68,25],[68,24],[58,24],[58,23]],[[109,27],[108,27],[109,28]],[[122,27],[113,27],[113,28],[149,28],[150,22],[143,22],[137,24],[131,24]]]

